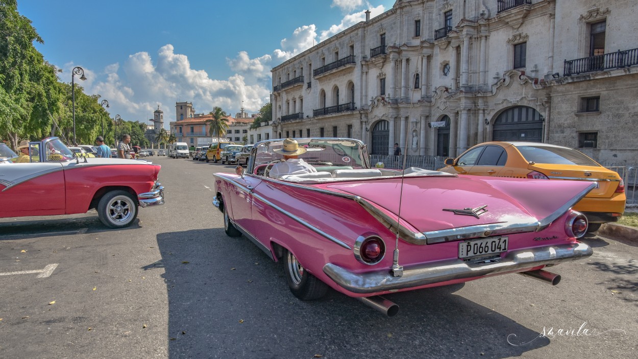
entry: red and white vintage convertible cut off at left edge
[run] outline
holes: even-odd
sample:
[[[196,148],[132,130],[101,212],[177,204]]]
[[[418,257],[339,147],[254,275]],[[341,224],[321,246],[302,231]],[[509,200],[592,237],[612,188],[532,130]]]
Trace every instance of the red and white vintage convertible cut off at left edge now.
[[[130,225],[138,206],[164,203],[159,165],[77,158],[57,137],[29,142],[29,163],[0,165],[0,218],[98,211],[111,228]]]

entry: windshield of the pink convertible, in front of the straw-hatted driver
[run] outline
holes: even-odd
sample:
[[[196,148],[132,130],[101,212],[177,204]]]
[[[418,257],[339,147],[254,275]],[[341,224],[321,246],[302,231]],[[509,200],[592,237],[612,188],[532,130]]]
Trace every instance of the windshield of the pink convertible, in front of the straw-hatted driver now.
[[[306,153],[299,155],[311,165],[352,166],[366,168],[364,148],[361,142],[350,139],[296,139]],[[274,152],[283,146],[282,140],[269,141],[257,146],[255,166],[280,160],[283,155]]]

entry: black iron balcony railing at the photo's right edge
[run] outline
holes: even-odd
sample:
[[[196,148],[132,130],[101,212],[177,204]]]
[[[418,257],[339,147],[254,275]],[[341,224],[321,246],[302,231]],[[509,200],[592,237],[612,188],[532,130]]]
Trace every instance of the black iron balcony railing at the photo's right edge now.
[[[604,55],[583,57],[582,59],[565,60],[563,76],[579,73],[596,72],[638,65],[638,49],[611,52]]]

